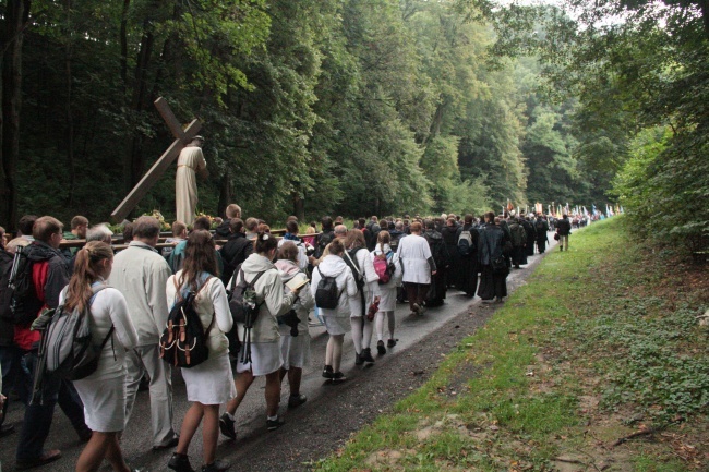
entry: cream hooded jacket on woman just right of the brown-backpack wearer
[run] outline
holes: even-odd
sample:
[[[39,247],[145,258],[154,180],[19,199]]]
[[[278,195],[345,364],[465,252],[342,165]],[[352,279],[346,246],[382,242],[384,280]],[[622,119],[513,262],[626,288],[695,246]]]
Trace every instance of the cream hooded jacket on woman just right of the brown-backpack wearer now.
[[[285,315],[292,307],[296,295],[284,291],[284,281],[278,269],[271,261],[261,254],[251,254],[241,265],[243,276],[251,282],[259,273],[264,273],[256,283],[256,303],[259,304],[259,317],[251,330],[252,342],[276,342],[280,339],[278,332],[278,320],[276,316]],[[235,273],[236,282],[241,281],[240,273]],[[230,282],[231,283],[231,282]],[[243,325],[239,324],[239,338],[243,339]]]

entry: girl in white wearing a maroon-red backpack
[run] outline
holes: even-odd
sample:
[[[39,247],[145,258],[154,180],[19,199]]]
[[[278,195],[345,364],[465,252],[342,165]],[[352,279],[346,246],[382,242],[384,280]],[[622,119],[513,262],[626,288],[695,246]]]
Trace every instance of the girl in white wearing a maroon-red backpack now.
[[[399,262],[399,255],[392,250],[389,245],[392,237],[388,231],[381,231],[376,240],[376,247],[372,251],[372,263],[376,257],[385,257],[387,264],[394,265],[394,274],[392,278],[386,282],[382,283],[380,280],[380,308],[376,312],[376,317],[374,318],[374,324],[376,327],[376,351],[380,355],[386,354],[386,348],[394,348],[396,346],[397,339],[394,338],[394,329],[396,328],[396,290],[401,285],[401,263]],[[386,322],[388,327],[388,339],[386,341],[386,347],[384,347],[384,323]]]

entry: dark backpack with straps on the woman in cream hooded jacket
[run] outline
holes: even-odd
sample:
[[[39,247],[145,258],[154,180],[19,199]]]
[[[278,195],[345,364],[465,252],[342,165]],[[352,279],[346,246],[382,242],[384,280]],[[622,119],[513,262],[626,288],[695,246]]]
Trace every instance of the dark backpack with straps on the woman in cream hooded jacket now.
[[[241,362],[248,363],[251,362],[251,329],[256,323],[256,318],[259,318],[261,305],[264,304],[264,302],[259,303],[256,301],[255,285],[266,271],[263,270],[256,274],[250,282],[247,280],[241,265],[237,267],[235,273],[228,292],[229,312],[231,312],[233,327],[227,334],[227,339],[229,339],[229,352],[236,355],[241,350]],[[237,283],[238,278],[241,279],[239,283]],[[243,344],[239,340],[237,323],[243,324]]]

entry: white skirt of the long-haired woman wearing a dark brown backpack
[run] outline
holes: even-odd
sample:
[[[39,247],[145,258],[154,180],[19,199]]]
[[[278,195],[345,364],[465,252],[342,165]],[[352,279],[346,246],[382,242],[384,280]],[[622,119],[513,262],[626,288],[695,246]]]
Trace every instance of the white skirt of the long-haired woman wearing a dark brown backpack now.
[[[181,368],[188,388],[188,401],[202,404],[221,404],[237,396],[229,354],[209,358],[202,364]]]

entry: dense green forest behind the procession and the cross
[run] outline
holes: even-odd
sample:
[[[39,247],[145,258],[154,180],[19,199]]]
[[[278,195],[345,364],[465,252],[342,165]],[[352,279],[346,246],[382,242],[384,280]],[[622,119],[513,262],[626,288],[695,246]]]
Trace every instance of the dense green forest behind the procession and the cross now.
[[[0,225],[107,220],[172,141],[161,96],[203,122],[207,214],[613,202],[706,252],[708,2],[528,3],[4,0]]]

